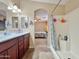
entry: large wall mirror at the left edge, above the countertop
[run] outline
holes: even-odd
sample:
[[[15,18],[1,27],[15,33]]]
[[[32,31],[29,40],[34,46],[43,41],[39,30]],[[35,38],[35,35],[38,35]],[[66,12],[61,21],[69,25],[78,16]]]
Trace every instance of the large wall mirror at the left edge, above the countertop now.
[[[0,31],[6,29],[5,21],[6,21],[6,9],[7,5],[0,2]]]

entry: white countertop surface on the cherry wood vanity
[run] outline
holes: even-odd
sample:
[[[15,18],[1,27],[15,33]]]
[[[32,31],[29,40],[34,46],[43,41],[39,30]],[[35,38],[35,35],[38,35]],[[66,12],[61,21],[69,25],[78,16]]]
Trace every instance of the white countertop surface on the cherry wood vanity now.
[[[29,32],[8,32],[0,34],[0,43],[28,34]]]

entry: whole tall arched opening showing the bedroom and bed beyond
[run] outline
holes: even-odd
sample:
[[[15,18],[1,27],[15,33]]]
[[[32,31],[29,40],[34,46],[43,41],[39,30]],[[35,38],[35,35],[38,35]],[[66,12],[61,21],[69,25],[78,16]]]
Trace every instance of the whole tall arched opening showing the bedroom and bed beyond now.
[[[34,21],[35,21],[34,22],[35,39],[46,39],[46,40],[35,40],[35,44],[36,45],[41,45],[41,44],[47,45],[48,12],[44,9],[35,10],[34,11]]]

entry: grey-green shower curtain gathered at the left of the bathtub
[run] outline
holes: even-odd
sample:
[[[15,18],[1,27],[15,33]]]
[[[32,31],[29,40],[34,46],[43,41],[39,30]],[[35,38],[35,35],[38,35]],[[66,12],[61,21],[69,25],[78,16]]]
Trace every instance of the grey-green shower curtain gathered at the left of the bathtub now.
[[[57,40],[56,40],[56,32],[55,32],[54,22],[53,22],[53,16],[50,16],[49,23],[50,23],[50,39],[51,39],[52,48],[54,48],[55,50],[58,50]]]

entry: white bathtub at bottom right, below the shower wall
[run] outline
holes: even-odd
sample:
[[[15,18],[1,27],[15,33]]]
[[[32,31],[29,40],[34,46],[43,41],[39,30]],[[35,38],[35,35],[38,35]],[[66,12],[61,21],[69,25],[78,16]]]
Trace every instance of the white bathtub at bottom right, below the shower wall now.
[[[70,51],[55,51],[52,47],[50,47],[52,54],[54,56],[54,59],[79,59],[79,56],[77,56],[76,54],[74,54],[73,52]]]

